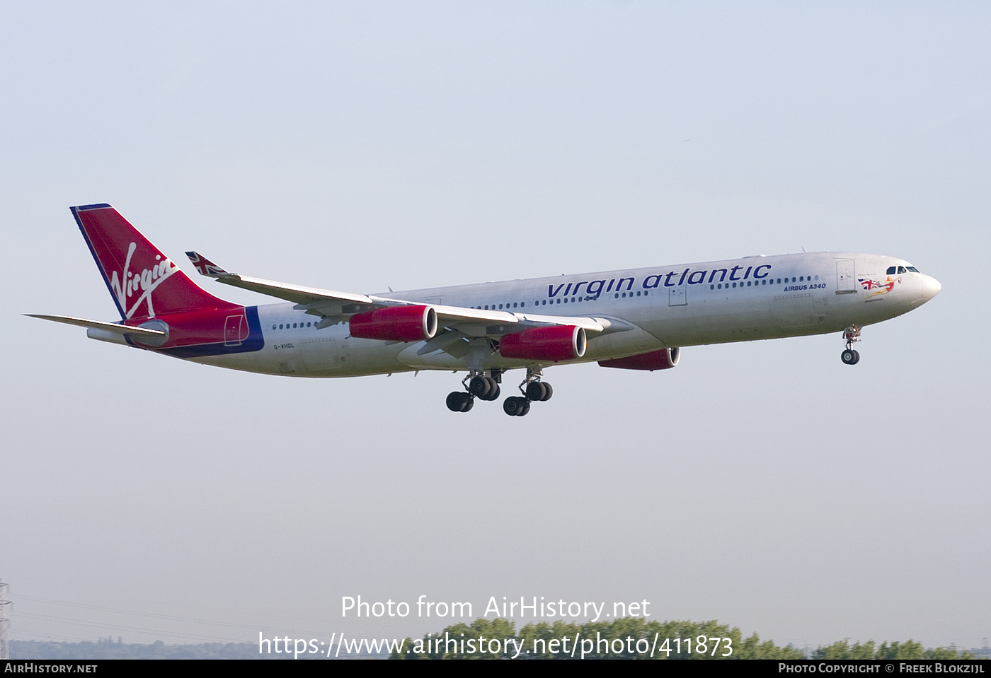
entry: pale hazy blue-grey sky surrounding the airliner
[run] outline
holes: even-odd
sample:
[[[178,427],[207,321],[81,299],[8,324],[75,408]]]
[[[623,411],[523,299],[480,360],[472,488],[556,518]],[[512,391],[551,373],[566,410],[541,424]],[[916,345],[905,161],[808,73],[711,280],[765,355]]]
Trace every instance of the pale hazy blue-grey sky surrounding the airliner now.
[[[0,4],[11,637],[450,624],[341,617],[342,596],[424,595],[980,645],[989,19],[978,2]],[[525,418],[455,415],[460,375],[238,373],[24,318],[116,318],[68,211],[97,202],[188,272],[196,248],[354,292],[802,247],[904,257],[943,289],[866,328],[856,367],[838,335],[694,346],[667,372],[551,369],[553,401]]]

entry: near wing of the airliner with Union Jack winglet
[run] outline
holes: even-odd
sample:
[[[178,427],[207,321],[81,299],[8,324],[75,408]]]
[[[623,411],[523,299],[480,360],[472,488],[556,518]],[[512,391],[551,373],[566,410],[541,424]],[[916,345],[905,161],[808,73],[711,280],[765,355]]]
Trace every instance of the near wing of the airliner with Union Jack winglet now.
[[[437,320],[441,325],[476,337],[500,336],[511,332],[521,332],[528,328],[553,325],[577,326],[587,332],[603,332],[611,326],[611,323],[605,318],[565,318],[530,313],[485,311],[461,306],[443,306],[403,299],[389,299],[376,295],[321,290],[315,287],[304,287],[229,273],[195,251],[187,251],[186,256],[202,275],[214,278],[225,285],[291,301],[296,305],[296,309],[305,310],[312,316],[320,316],[322,319],[317,325],[318,328],[329,327],[359,313],[390,306],[430,306],[437,313]]]

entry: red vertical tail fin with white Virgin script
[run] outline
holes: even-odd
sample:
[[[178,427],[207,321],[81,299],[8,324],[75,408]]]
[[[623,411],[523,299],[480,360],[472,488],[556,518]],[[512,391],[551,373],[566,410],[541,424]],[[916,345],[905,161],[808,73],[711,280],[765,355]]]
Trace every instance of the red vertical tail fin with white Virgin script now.
[[[233,306],[202,290],[110,205],[70,209],[121,318]]]

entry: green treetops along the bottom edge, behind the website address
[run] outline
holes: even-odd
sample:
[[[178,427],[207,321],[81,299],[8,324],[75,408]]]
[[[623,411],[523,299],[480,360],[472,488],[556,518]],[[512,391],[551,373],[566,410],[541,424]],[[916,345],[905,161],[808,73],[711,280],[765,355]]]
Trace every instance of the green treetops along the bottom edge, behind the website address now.
[[[713,622],[647,622],[625,618],[611,622],[527,624],[515,632],[504,619],[455,624],[422,638],[406,638],[391,659],[974,659],[969,650],[926,649],[914,640],[873,640],[850,645],[839,640],[811,656],[792,645],[744,638],[733,627]]]

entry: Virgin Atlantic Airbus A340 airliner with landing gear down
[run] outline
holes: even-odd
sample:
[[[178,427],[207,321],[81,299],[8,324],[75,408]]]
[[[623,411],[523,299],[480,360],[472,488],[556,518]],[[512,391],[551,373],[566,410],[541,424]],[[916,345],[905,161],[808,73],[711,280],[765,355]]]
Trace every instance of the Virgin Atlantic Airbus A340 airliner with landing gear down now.
[[[657,370],[683,346],[842,333],[842,361],[865,325],[925,304],[941,289],[908,261],[858,252],[744,256],[626,270],[355,294],[230,273],[186,252],[196,270],[288,303],[241,306],[196,285],[110,205],[71,208],[121,320],[45,320],[111,341],[220,367],[299,377],[422,369],[465,372],[447,396],[453,412],[500,394],[502,375],[525,370],[523,416],[553,390],[543,370],[597,361]]]

